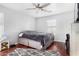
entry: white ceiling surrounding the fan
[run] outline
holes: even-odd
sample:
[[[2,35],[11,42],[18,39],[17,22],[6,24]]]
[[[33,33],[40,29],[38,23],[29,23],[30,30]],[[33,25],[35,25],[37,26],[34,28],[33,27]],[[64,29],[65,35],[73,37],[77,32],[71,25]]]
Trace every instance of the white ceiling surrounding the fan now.
[[[41,3],[42,4],[42,3]],[[53,14],[58,14],[62,12],[72,11],[74,9],[73,3],[51,3],[44,9],[52,11],[52,12],[44,12],[38,9],[35,10],[26,10],[27,8],[33,8],[32,3],[2,3],[1,5],[13,9],[15,11],[23,12],[29,14],[33,17],[44,17],[50,16]]]

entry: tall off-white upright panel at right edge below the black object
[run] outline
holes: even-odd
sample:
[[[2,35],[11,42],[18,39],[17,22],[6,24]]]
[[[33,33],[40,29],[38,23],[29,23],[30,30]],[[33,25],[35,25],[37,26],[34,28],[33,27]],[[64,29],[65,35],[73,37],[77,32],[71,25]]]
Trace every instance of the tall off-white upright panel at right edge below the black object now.
[[[79,56],[79,23],[72,24],[70,55]]]

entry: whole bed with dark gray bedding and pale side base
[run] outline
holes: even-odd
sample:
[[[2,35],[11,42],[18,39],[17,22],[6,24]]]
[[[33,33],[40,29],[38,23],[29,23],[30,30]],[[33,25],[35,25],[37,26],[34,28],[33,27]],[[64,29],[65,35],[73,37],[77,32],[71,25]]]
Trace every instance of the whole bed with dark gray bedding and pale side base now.
[[[54,35],[51,33],[37,31],[22,31],[18,35],[18,43],[39,50],[44,50],[54,42]]]

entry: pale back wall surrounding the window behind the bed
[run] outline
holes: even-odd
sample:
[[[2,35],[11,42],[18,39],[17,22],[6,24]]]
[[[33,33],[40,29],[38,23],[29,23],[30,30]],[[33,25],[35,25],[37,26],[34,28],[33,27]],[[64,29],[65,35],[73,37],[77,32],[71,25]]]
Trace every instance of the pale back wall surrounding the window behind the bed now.
[[[49,19],[56,19],[57,22],[55,41],[65,42],[65,34],[71,32],[71,23],[74,22],[74,11],[37,18],[37,31],[47,32],[47,25],[45,21]]]

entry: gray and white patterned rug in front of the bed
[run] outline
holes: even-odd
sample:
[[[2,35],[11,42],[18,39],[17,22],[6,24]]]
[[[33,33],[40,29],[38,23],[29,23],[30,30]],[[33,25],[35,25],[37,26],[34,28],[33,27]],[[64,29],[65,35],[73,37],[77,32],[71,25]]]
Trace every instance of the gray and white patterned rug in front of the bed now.
[[[60,56],[60,53],[55,51],[40,51],[30,48],[17,48],[9,53],[8,56]]]

